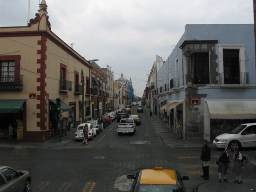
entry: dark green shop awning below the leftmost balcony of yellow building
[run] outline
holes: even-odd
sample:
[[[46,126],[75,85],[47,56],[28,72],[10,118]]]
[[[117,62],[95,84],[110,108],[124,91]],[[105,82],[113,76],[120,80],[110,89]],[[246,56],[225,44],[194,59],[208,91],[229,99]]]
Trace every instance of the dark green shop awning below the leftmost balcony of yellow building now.
[[[17,113],[26,99],[0,99],[0,113]]]

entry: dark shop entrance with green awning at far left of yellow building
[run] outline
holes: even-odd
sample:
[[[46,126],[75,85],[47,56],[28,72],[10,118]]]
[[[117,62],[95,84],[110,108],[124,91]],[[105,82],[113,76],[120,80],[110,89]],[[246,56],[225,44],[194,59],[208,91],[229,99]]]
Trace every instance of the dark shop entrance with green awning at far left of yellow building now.
[[[13,138],[23,139],[26,131],[26,99],[0,99],[0,139],[8,138],[8,126],[13,126]]]

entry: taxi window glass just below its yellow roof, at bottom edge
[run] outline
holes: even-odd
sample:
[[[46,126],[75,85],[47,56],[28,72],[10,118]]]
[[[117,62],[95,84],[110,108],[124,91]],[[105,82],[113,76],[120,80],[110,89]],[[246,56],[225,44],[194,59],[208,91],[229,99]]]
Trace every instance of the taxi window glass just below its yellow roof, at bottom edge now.
[[[137,192],[178,192],[177,185],[139,185]]]

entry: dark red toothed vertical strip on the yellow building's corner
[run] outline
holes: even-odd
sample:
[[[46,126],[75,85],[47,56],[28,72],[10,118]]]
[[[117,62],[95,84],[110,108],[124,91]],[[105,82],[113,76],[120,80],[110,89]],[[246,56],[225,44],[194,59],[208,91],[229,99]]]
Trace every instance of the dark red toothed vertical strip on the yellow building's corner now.
[[[39,95],[37,95],[36,99],[39,100],[39,104],[36,105],[36,108],[40,110],[39,113],[37,113],[37,118],[40,120],[37,122],[37,126],[40,127],[40,130],[46,130],[47,126],[47,117],[46,117],[46,51],[47,51],[47,37],[42,35],[41,40],[37,42],[38,45],[40,45],[40,50],[37,51],[37,54],[40,55],[40,59],[37,60],[37,64],[40,64],[40,67],[37,69],[37,73],[40,74],[40,77],[37,78],[37,82],[39,83],[39,86],[36,87],[37,91],[40,92]]]

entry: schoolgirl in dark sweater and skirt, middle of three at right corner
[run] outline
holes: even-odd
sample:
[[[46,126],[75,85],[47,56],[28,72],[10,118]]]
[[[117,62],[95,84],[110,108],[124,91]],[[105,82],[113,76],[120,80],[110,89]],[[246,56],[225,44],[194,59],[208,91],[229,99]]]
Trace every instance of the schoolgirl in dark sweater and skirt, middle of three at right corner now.
[[[229,161],[229,153],[231,152],[230,147],[226,148],[224,152],[219,157],[219,167],[218,167],[218,172],[219,172],[219,182],[222,182],[222,175],[223,175],[223,181],[228,182],[226,179],[226,174],[227,172],[227,167]]]

